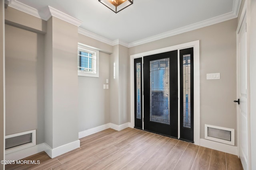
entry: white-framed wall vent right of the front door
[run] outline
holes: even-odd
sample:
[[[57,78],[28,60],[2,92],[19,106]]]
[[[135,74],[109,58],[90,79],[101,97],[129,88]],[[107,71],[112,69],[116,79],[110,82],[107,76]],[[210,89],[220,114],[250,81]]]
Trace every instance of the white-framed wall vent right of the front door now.
[[[218,127],[212,125],[205,125],[205,139],[225,143],[228,145],[235,145],[234,129],[226,127]]]

